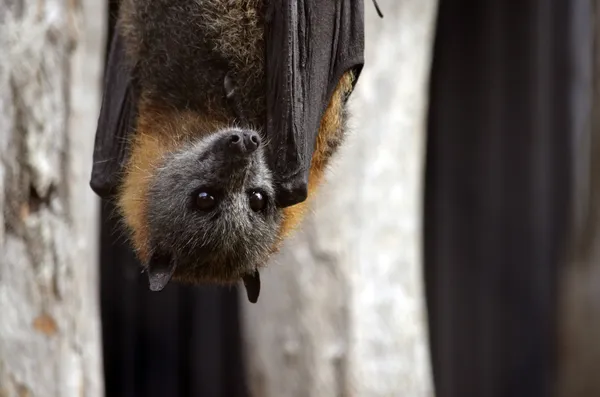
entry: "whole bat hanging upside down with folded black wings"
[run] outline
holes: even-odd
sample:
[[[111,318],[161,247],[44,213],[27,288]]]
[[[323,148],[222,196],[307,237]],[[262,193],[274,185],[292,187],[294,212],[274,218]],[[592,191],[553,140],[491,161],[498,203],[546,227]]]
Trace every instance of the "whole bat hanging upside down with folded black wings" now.
[[[343,142],[362,0],[123,0],[90,185],[149,286],[243,280],[302,220]]]

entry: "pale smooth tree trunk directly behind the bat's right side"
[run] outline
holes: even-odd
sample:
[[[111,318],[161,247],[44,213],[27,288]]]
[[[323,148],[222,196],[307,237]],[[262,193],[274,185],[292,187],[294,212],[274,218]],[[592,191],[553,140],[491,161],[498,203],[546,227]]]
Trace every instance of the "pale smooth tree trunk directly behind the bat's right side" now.
[[[421,203],[435,0],[366,6],[352,131],[302,230],[242,296],[255,397],[433,395]]]

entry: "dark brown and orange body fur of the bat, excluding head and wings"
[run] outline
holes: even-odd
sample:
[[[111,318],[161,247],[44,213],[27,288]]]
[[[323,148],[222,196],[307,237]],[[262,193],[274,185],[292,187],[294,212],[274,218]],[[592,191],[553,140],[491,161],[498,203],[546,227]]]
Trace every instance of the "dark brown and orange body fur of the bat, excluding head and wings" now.
[[[224,98],[231,73],[244,116],[259,132],[265,119],[262,0],[124,0],[119,29],[141,84],[136,133],[118,198],[139,258],[148,259],[149,181],[171,151],[190,139],[238,124]],[[193,27],[193,29],[191,28]],[[342,142],[345,98],[353,76],[340,80],[321,120],[311,163],[309,198]],[[285,208],[280,240],[302,220],[305,203]]]

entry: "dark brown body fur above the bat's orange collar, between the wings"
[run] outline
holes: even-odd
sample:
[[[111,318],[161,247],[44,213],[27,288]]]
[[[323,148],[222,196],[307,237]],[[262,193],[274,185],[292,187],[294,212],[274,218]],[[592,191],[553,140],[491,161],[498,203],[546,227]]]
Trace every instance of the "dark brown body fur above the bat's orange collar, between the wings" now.
[[[222,111],[230,73],[245,118],[262,124],[263,0],[124,0],[121,7],[119,29],[146,100]]]

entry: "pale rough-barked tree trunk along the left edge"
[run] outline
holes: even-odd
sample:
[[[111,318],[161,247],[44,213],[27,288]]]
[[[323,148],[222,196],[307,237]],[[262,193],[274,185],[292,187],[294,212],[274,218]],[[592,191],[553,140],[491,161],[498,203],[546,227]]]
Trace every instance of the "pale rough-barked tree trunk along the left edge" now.
[[[0,0],[0,396],[102,396],[105,1]]]

